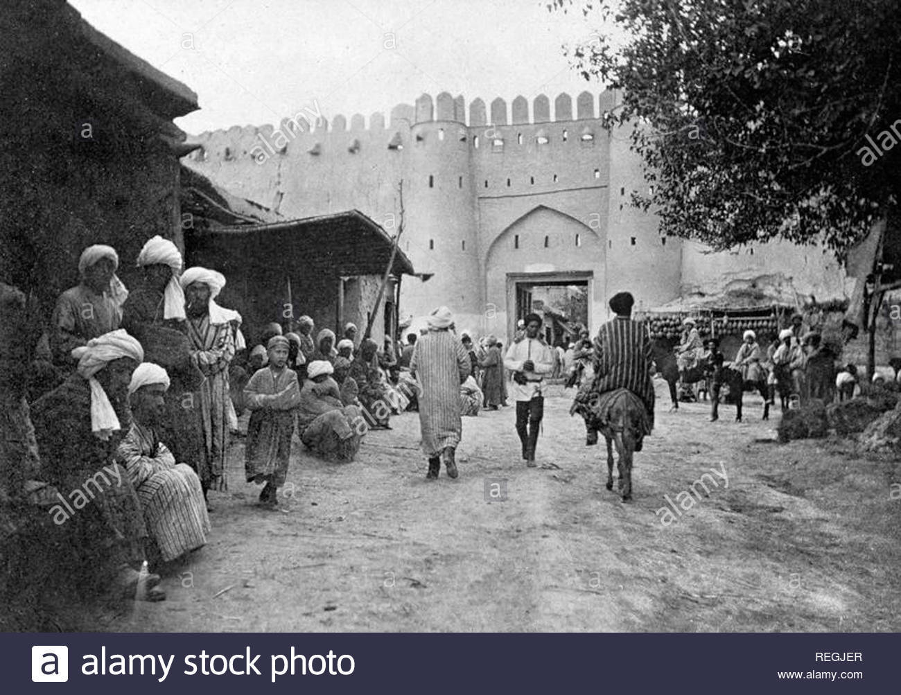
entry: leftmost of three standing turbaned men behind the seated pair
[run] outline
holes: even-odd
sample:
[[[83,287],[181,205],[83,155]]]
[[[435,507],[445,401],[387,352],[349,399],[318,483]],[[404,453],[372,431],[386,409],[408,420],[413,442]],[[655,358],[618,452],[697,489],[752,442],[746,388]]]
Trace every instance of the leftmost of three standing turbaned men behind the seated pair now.
[[[80,281],[59,295],[50,319],[54,363],[71,372],[72,350],[119,328],[128,290],[115,275],[119,255],[104,244],[87,247],[78,260]]]

